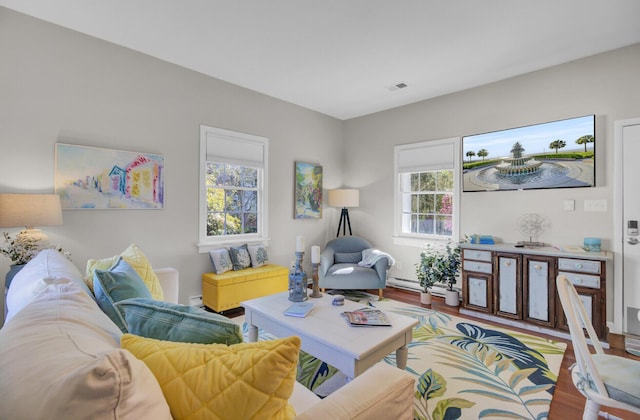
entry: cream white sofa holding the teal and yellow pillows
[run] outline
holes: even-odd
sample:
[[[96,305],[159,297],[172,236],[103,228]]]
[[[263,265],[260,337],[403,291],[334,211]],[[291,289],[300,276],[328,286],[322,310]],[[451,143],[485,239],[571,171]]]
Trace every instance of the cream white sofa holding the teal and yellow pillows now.
[[[155,270],[165,300],[178,300],[178,272]],[[82,275],[43,251],[14,278],[0,329],[0,418],[171,418],[147,366],[120,348],[122,333]],[[324,399],[296,383],[299,419],[410,419],[414,379],[378,364]]]

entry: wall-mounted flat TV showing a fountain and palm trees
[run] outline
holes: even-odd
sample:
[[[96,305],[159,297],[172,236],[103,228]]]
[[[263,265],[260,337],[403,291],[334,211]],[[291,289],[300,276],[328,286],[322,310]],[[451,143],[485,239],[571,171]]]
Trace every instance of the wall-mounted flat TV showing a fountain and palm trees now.
[[[595,115],[462,138],[463,191],[595,186]]]

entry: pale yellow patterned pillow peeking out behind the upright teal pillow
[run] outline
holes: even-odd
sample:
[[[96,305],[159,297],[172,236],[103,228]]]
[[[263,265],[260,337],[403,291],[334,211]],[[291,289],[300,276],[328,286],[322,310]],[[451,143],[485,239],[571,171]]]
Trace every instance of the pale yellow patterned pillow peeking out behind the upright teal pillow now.
[[[111,258],[105,258],[102,260],[90,259],[87,261],[86,282],[91,290],[93,290],[93,272],[94,270],[108,270],[117,261],[118,257],[122,257],[142,278],[145,286],[151,292],[151,297],[155,300],[164,300],[164,294],[162,292],[162,286],[158,276],[153,272],[151,263],[147,259],[146,255],[142,252],[136,244],[131,244],[127,249],[122,251],[120,255],[116,255]]]

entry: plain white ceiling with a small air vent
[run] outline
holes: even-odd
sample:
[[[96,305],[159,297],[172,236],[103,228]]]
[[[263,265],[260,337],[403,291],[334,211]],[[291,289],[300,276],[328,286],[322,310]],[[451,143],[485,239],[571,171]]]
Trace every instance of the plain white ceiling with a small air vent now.
[[[0,5],[342,120],[640,42],[638,0]]]

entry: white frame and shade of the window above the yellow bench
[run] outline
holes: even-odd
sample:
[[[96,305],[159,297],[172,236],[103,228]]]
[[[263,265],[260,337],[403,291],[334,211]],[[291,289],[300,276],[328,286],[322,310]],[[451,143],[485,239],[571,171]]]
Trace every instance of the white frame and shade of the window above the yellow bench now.
[[[209,147],[217,144],[224,147]],[[250,150],[253,153],[247,153]],[[216,155],[215,161],[249,167],[258,167],[258,231],[241,235],[207,235],[207,161]],[[207,159],[209,156],[209,159]],[[263,243],[268,241],[268,191],[269,185],[269,139],[266,137],[245,134],[222,128],[200,126],[200,176],[199,176],[199,223],[198,250],[200,253],[221,246],[232,246],[243,243]]]

